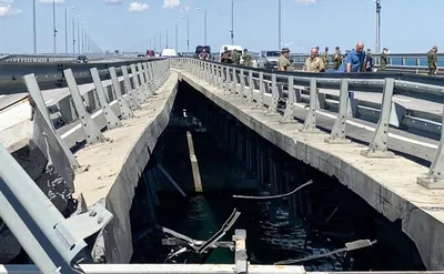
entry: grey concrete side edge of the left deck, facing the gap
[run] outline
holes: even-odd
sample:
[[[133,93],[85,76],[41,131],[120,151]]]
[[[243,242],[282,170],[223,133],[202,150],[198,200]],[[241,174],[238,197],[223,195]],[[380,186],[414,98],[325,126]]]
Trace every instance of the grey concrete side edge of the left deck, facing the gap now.
[[[141,173],[150,160],[159,136],[167,128],[175,94],[178,92],[178,74],[172,73],[162,89],[170,89],[168,100],[162,111],[154,120],[147,124],[137,143],[125,156],[124,163],[117,175],[110,192],[105,197],[107,209],[114,215],[103,231],[107,263],[129,263],[132,256],[132,235],[130,224],[130,209],[134,190]],[[162,95],[163,92],[159,92]],[[130,201],[129,203],[121,201]]]

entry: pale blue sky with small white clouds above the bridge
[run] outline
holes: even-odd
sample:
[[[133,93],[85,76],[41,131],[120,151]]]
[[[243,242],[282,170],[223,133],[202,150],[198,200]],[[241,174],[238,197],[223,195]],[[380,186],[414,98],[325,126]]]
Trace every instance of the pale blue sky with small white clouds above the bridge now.
[[[53,53],[52,1],[37,1],[38,52]],[[374,0],[281,0],[282,47],[310,52],[325,45],[352,49],[357,41],[375,49]],[[234,44],[250,51],[278,50],[278,0],[234,0]],[[444,0],[381,0],[381,45],[391,52],[426,52],[444,43]],[[73,9],[71,9],[74,7]],[[67,9],[68,8],[68,9]],[[168,42],[186,51],[206,41],[212,51],[230,44],[231,0],[56,0],[57,52],[65,52],[64,11],[68,10],[69,52],[72,52],[72,18],[84,22],[87,32],[102,50],[159,50]],[[78,18],[80,17],[80,18]],[[183,18],[183,19],[182,19]],[[33,51],[32,0],[0,0],[0,52]],[[75,28],[77,35],[77,28]],[[77,47],[75,47],[77,48]]]

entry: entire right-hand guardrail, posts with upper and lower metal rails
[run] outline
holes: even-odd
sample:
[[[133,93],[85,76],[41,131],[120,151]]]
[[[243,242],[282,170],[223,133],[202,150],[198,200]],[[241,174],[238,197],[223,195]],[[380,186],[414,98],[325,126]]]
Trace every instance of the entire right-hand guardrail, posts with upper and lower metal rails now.
[[[442,109],[443,80],[402,73],[305,73],[281,72],[252,69],[242,65],[226,65],[219,62],[201,61],[192,58],[170,59],[172,65],[199,77],[209,84],[226,92],[246,98],[258,108],[268,112],[278,111],[284,103],[282,122],[294,121],[295,104],[309,102],[309,112],[304,119],[303,131],[317,131],[316,115],[322,109],[337,112],[331,136],[326,142],[347,142],[345,124],[349,116],[372,115],[377,125],[369,149],[363,152],[369,158],[392,158],[389,151],[389,126],[400,130],[415,129],[441,135],[436,155],[426,177],[418,177],[418,184],[428,189],[444,189],[444,139],[443,115],[432,114],[427,110],[408,111],[393,100],[394,94],[418,98],[440,103]],[[441,84],[427,83],[431,79]],[[417,81],[414,81],[417,80]],[[319,89],[339,90],[337,94],[320,92]],[[304,94],[305,91],[305,94]],[[381,103],[366,103],[350,98],[352,91],[382,93]]]

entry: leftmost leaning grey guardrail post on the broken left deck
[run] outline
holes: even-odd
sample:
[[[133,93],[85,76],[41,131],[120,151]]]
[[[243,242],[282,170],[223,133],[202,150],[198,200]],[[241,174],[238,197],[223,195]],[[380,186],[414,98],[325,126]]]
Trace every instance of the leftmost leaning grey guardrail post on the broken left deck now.
[[[37,144],[40,143],[40,150],[41,152],[46,153],[49,152],[51,155],[46,155],[47,159],[49,160],[51,159],[58,159],[57,162],[54,162],[54,166],[56,170],[59,172],[59,174],[63,175],[64,170],[65,170],[65,165],[63,164],[63,161],[61,161],[60,155],[57,155],[57,153],[59,151],[63,151],[64,156],[67,158],[69,165],[72,166],[72,169],[77,169],[80,166],[79,162],[77,161],[77,159],[74,158],[74,155],[72,154],[72,152],[69,150],[69,148],[67,146],[67,144],[62,141],[62,139],[59,136],[59,134],[57,134],[56,132],[56,128],[54,124],[51,121],[51,118],[49,116],[48,113],[48,108],[44,104],[44,100],[43,97],[41,94],[39,84],[36,80],[36,75],[32,74],[27,74],[23,77],[24,80],[24,84],[27,85],[29,95],[31,97],[30,99],[34,102],[36,106],[34,108],[34,123],[39,123],[39,125],[41,125],[44,131],[44,133],[48,135],[48,138],[50,139],[50,143],[52,144],[50,148],[44,148],[47,145],[42,145],[41,140],[34,140],[34,142]],[[40,122],[38,119],[36,119],[36,114],[40,112],[40,115],[43,118],[42,121]],[[44,123],[44,124],[43,124]],[[56,148],[54,148],[56,146]],[[48,150],[47,150],[48,149]],[[62,164],[62,165],[59,165]],[[67,183],[72,186],[72,190],[74,189],[73,186],[73,177],[72,176],[67,176],[63,175],[64,181],[67,181]]]

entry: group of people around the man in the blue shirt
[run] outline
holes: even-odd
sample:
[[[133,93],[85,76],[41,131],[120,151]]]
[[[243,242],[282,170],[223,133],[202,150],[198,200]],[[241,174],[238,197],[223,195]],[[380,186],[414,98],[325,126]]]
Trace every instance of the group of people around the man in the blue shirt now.
[[[381,67],[380,70],[385,70],[389,63],[387,49],[383,50],[381,54]],[[325,52],[322,57],[319,55],[319,47],[313,48],[310,52],[310,57],[306,58],[303,71],[306,72],[326,72],[326,73],[350,73],[350,72],[365,72],[373,71],[374,59],[370,49],[364,52],[364,43],[359,42],[356,48],[351,51],[346,51],[344,55],[341,54],[340,47],[335,48],[334,54],[331,57],[333,65],[330,65],[329,48],[325,48]],[[290,62],[290,50],[283,48],[281,57],[278,60],[278,69],[282,71],[291,70]]]

